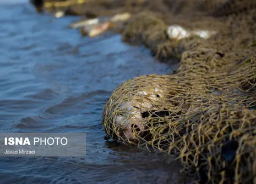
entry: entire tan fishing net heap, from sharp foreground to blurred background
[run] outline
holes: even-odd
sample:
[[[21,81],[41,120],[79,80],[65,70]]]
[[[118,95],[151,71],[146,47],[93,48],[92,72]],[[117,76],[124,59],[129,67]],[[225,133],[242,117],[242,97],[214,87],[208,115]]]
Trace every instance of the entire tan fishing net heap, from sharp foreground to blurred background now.
[[[175,155],[197,182],[256,183],[256,4],[198,2],[172,1],[167,15],[153,9],[128,22],[124,41],[139,39],[157,58],[176,58],[180,66],[171,76],[121,84],[102,124],[113,139]],[[172,24],[217,33],[168,39]]]

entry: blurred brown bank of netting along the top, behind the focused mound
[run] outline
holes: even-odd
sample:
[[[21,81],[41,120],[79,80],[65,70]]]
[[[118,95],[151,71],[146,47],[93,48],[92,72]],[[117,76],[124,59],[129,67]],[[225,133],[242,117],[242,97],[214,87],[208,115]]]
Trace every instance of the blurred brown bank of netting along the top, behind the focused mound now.
[[[184,51],[194,51],[199,48],[215,49],[224,53],[225,59],[234,60],[234,62],[247,59],[255,53],[255,47],[249,48],[249,45],[255,44],[253,42],[255,36],[251,31],[255,26],[240,20],[242,16],[244,19],[249,19],[255,12],[253,2],[252,5],[240,4],[241,8],[237,3],[233,5],[233,12],[232,9],[225,12],[228,2],[199,2],[200,0],[195,0],[195,3],[177,0],[69,0],[63,2],[46,0],[43,5],[50,13],[64,10],[65,15],[81,16],[81,19],[130,13],[132,18],[128,24],[121,30],[114,28],[113,31],[121,33],[124,42],[145,45],[152,51],[152,55],[161,61],[170,58],[181,60]],[[245,6],[246,10],[244,10]],[[240,24],[241,27],[237,30],[238,27],[234,27],[234,24]],[[180,25],[192,30],[211,30],[216,31],[217,34],[209,39],[192,36],[177,41],[169,39],[166,35],[166,28],[170,25]],[[239,45],[237,41],[243,42],[243,45]],[[236,57],[233,56],[235,54]]]

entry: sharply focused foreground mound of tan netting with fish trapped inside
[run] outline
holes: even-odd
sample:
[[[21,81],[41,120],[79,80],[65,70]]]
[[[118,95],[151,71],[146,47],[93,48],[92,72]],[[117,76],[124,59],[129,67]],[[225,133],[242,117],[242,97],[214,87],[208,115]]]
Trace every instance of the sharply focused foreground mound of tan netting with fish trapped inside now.
[[[129,79],[102,114],[113,139],[181,159],[202,181],[256,182],[256,55],[228,62],[214,49],[182,54],[178,73]]]

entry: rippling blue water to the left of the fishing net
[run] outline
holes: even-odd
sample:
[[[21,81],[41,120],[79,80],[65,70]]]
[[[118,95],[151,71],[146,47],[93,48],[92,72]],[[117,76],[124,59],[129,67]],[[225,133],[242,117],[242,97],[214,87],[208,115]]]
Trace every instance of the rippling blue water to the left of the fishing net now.
[[[84,158],[1,157],[0,183],[175,183],[167,156],[104,139],[101,113],[112,91],[171,66],[107,32],[81,38],[78,18],[40,15],[29,4],[0,6],[0,131],[87,133]]]

